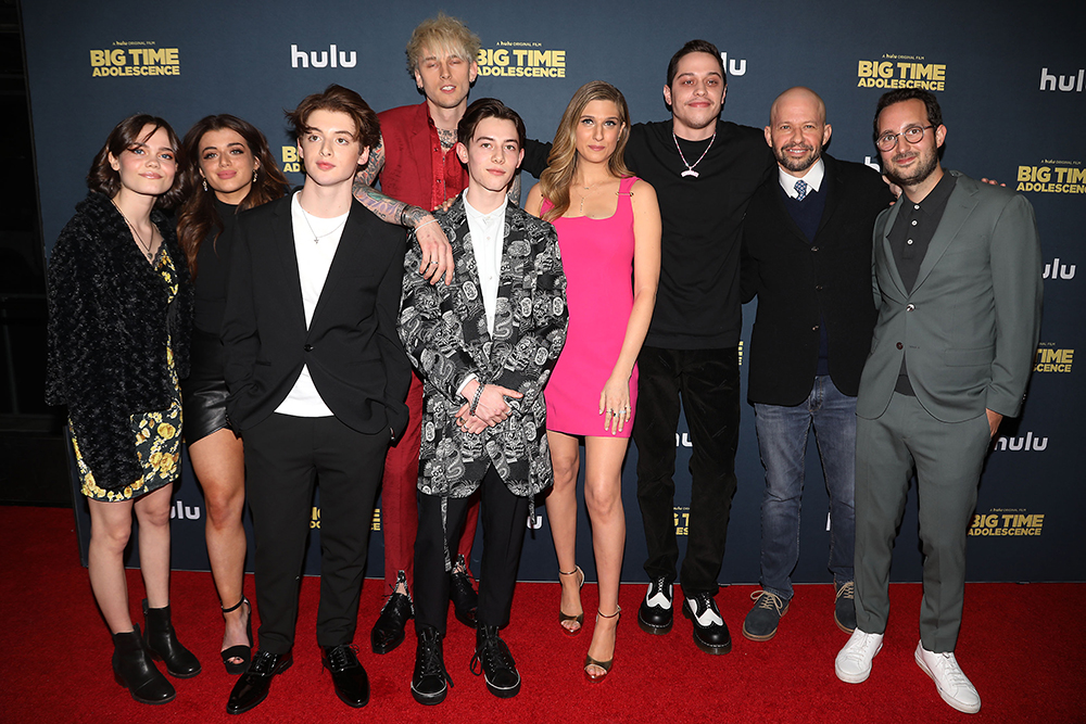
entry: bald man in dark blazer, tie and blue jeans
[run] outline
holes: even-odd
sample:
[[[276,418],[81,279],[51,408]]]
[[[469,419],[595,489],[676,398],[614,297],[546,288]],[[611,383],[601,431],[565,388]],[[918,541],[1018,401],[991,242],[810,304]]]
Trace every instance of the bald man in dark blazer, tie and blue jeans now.
[[[831,132],[811,90],[776,98],[766,142],[779,173],[755,193],[744,221],[743,301],[758,296],[747,398],[766,467],[763,590],[743,623],[743,635],[757,642],[776,634],[792,599],[812,423],[830,493],[834,620],[843,631],[856,627],[856,393],[875,322],[871,229],[893,194],[876,172],[822,153]]]

